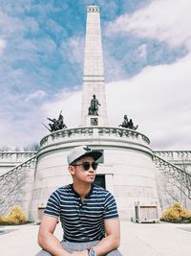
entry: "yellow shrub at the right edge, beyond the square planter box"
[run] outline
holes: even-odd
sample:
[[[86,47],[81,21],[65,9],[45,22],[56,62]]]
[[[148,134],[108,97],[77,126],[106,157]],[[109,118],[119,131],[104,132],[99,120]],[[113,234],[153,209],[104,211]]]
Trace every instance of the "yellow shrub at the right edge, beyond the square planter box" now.
[[[191,222],[191,211],[185,210],[180,202],[176,202],[162,213],[160,221]]]

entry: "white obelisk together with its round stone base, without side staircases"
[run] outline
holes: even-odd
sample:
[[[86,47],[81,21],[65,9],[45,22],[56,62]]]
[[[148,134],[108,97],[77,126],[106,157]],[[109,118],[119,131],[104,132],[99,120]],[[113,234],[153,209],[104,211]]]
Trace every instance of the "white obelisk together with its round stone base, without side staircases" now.
[[[106,109],[99,8],[93,5],[87,7],[81,126],[53,131],[41,140],[32,191],[32,220],[40,220],[55,188],[72,182],[67,154],[80,145],[103,151],[96,182],[115,195],[120,218],[136,219],[140,204],[157,205],[158,216],[159,196],[149,139],[133,129],[108,126]]]

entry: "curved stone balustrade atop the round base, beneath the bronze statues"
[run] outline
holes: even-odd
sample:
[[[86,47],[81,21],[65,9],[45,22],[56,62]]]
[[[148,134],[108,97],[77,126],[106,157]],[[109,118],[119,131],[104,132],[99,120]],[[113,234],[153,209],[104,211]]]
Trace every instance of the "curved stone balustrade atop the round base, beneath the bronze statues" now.
[[[116,138],[117,140],[134,140],[140,144],[149,145],[150,140],[142,133],[129,128],[111,128],[111,127],[79,127],[66,128],[52,132],[44,137],[40,142],[40,147],[46,147],[50,144],[67,141],[75,138]]]

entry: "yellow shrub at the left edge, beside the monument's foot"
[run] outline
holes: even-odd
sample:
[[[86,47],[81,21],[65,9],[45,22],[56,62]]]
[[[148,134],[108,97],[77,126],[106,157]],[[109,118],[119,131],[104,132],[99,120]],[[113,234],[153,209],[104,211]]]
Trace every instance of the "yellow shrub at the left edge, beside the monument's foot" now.
[[[0,223],[3,224],[22,224],[26,222],[28,222],[27,217],[18,205],[13,206],[7,216],[0,216]]]

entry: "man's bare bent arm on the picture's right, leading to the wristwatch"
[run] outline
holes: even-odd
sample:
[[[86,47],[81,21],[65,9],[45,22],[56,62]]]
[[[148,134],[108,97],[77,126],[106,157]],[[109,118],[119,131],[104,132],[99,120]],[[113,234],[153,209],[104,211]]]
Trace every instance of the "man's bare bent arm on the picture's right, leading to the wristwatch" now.
[[[120,226],[118,219],[108,219],[105,220],[104,223],[107,236],[94,246],[97,256],[105,255],[117,249],[120,243]]]

